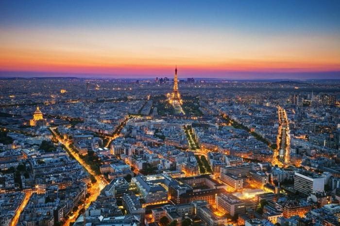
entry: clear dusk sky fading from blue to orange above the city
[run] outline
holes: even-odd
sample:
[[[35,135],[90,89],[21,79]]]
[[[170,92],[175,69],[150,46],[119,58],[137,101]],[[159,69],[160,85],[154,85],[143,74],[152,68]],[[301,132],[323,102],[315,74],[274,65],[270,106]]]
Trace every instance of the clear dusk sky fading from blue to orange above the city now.
[[[340,0],[1,0],[0,77],[340,79]]]

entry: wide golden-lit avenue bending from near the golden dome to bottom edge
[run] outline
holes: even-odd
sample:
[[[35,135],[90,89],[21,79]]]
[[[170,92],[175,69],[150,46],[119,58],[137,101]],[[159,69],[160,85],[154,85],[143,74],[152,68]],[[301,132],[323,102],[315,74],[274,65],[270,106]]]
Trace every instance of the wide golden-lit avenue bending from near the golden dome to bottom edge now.
[[[108,184],[106,179],[102,175],[97,175],[91,167],[83,160],[80,158],[78,153],[74,152],[72,148],[69,147],[71,144],[68,140],[61,139],[56,133],[55,133],[55,128],[51,128],[51,131],[55,135],[56,139],[65,147],[68,149],[68,153],[70,153],[75,160],[77,160],[86,170],[89,174],[91,174],[94,178],[96,178],[97,182],[92,183],[92,186],[87,190],[88,193],[90,193],[90,196],[85,200],[85,209],[90,206],[90,204],[95,201],[98,197],[98,195],[101,193],[102,189]],[[71,222],[74,222],[76,220],[76,217],[78,216],[80,210],[83,207],[83,205],[80,205],[78,207],[78,210],[74,211],[73,214],[68,218],[68,220],[65,221],[64,226],[68,226]]]

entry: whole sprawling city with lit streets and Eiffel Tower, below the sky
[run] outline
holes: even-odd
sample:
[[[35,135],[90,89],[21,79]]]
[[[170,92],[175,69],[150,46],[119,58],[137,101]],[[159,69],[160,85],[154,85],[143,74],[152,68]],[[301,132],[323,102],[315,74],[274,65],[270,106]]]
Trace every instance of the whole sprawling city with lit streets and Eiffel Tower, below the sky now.
[[[172,73],[0,79],[0,225],[339,225],[339,80]]]

